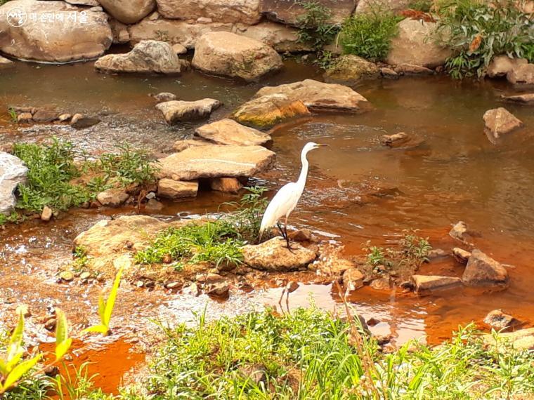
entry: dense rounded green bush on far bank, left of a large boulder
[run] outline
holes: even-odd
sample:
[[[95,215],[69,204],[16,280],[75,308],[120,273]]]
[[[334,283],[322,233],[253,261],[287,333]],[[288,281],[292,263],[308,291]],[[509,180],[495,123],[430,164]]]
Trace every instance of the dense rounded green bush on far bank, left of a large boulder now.
[[[353,15],[344,22],[339,34],[344,53],[368,60],[384,60],[401,19],[390,11],[375,7],[366,13]]]

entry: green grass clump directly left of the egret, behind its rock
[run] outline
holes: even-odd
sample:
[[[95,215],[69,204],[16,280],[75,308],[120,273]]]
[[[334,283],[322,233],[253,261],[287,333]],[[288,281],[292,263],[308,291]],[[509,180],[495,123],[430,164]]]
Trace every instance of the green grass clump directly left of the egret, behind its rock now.
[[[178,269],[184,263],[207,262],[216,267],[240,264],[241,248],[247,241],[258,238],[261,217],[267,206],[263,198],[266,188],[250,187],[248,190],[238,203],[226,204],[235,208],[234,211],[216,220],[193,222],[160,232],[148,248],[136,253],[136,262],[148,265],[175,262]]]

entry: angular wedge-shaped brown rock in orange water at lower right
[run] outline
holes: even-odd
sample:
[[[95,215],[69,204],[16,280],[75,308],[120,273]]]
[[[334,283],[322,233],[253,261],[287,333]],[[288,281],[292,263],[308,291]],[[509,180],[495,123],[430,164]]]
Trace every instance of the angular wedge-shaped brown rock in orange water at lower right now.
[[[509,284],[508,271],[499,262],[475,249],[464,269],[462,282],[466,286],[497,286]]]

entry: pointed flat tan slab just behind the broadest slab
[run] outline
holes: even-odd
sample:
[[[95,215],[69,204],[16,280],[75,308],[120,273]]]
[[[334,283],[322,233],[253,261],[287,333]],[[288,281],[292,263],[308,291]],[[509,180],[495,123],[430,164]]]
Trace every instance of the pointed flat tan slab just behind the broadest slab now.
[[[200,126],[195,134],[217,145],[258,146],[271,141],[271,136],[267,133],[243,126],[233,119],[221,119]]]

